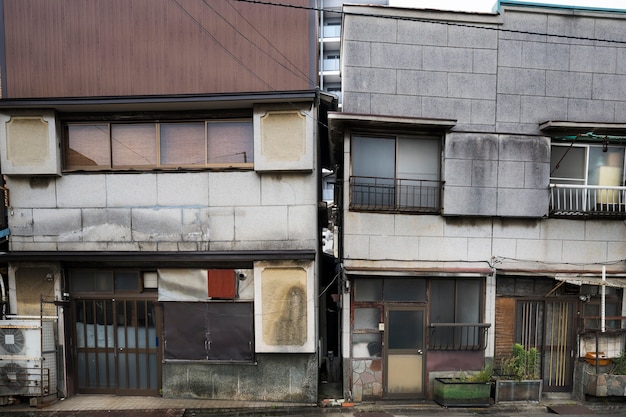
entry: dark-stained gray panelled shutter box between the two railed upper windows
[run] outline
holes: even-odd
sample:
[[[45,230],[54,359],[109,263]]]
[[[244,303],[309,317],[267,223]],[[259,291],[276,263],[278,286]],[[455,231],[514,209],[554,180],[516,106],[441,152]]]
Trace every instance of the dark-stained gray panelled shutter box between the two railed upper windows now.
[[[443,153],[444,215],[548,214],[549,138],[451,133]]]

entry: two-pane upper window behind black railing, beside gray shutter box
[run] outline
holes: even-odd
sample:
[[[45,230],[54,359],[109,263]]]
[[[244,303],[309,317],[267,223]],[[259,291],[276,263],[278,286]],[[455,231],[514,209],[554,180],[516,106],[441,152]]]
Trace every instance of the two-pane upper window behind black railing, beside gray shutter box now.
[[[350,209],[438,212],[440,140],[353,136]]]

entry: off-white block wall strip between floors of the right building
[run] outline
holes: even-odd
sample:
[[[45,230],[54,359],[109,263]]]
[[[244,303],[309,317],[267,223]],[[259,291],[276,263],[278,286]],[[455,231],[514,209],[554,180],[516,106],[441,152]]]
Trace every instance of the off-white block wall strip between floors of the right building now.
[[[456,261],[486,265],[496,258],[502,259],[508,268],[541,262],[546,269],[558,270],[619,261],[626,253],[623,225],[620,222],[621,227],[615,227],[611,220],[445,218],[355,212],[347,213],[346,219],[347,266],[386,262],[401,268]]]

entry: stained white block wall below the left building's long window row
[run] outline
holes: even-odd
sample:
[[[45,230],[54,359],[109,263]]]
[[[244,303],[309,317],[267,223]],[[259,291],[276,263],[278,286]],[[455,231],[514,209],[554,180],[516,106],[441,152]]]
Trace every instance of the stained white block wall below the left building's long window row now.
[[[317,246],[317,175],[9,177],[11,250],[289,250]]]

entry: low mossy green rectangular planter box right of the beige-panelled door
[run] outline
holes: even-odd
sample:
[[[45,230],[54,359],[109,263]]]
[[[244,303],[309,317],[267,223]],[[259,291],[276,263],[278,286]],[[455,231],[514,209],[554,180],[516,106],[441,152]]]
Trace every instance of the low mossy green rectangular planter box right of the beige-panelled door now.
[[[489,407],[490,382],[465,382],[455,378],[435,378],[433,399],[444,407]]]

